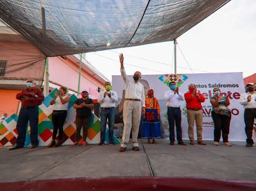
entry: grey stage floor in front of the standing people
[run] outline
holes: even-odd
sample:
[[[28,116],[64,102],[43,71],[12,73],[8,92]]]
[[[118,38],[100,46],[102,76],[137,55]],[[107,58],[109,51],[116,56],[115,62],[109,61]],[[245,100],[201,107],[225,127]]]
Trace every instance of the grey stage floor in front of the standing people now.
[[[171,178],[208,178],[256,182],[256,147],[232,142],[227,147],[212,141],[201,145],[169,145],[167,139],[157,145],[139,140],[139,152],[129,145],[38,147],[9,151],[0,148],[0,182],[49,180],[56,178],[101,178],[110,176],[162,176]],[[188,140],[185,140],[188,143]],[[176,142],[175,142],[176,144]]]

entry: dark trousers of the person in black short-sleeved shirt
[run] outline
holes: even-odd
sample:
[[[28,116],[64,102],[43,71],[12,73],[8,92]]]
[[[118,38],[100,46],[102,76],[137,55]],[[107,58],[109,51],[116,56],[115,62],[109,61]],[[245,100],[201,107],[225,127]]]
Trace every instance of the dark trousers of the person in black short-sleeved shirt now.
[[[90,117],[76,117],[76,142],[80,140],[80,132],[83,127],[83,141],[86,141],[89,124],[90,124]]]

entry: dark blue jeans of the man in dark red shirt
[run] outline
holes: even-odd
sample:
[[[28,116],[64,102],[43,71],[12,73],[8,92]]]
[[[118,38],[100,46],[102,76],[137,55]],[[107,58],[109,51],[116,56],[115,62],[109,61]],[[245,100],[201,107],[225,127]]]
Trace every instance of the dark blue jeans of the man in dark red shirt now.
[[[18,114],[18,122],[16,126],[18,131],[18,138],[16,143],[18,146],[24,146],[28,122],[31,127],[31,144],[38,145],[38,114],[38,106],[20,109],[20,113]]]

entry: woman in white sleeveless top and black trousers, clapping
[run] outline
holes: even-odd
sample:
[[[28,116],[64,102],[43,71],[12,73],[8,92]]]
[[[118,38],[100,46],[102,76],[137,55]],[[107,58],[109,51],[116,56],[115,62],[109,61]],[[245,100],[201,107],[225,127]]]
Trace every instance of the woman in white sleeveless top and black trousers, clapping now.
[[[52,133],[52,142],[48,146],[57,147],[61,145],[61,139],[63,135],[63,125],[67,117],[68,112],[68,103],[69,103],[69,95],[68,88],[60,87],[59,92],[55,92],[55,96],[53,97],[52,101],[50,101],[51,105],[53,106],[52,111],[52,124],[53,124],[53,133]],[[55,141],[57,136],[57,131],[59,130],[59,140]]]

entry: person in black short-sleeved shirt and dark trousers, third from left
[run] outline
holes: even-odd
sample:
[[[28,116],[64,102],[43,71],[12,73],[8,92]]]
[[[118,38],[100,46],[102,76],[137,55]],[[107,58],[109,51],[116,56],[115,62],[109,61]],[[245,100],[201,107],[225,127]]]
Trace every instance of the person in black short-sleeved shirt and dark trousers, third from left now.
[[[73,107],[76,109],[76,136],[75,143],[72,147],[78,146],[80,140],[80,132],[83,127],[83,144],[82,146],[87,146],[86,138],[88,134],[90,120],[92,118],[92,108],[94,107],[94,102],[89,98],[89,93],[87,90],[83,90],[82,98],[76,99]]]

